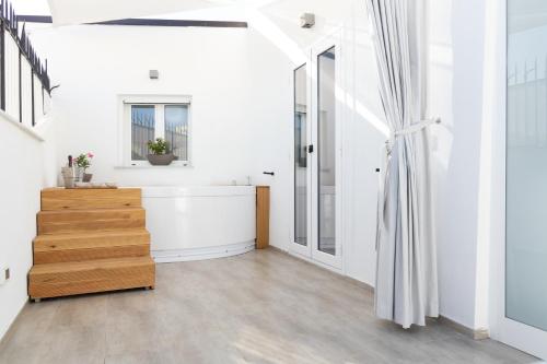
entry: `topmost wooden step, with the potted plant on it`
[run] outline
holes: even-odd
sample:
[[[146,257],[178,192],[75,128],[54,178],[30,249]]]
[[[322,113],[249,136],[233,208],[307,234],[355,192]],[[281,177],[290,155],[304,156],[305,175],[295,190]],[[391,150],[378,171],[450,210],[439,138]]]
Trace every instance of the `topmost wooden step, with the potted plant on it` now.
[[[42,211],[140,207],[140,188],[42,190]]]

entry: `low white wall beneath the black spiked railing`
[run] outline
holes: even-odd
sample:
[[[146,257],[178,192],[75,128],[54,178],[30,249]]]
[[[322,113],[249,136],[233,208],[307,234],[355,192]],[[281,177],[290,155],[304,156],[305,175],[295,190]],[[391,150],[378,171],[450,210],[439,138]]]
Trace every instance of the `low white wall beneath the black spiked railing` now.
[[[43,121],[39,130],[27,131],[0,111],[0,268],[11,273],[0,285],[0,339],[28,300],[26,277],[33,261],[39,191],[55,179],[51,122]]]

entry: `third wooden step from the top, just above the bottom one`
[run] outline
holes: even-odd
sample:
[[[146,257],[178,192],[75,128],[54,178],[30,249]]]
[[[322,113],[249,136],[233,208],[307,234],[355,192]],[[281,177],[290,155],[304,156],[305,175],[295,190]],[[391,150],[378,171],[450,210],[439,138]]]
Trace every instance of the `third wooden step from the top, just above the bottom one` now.
[[[150,256],[146,230],[39,235],[34,239],[34,263]]]

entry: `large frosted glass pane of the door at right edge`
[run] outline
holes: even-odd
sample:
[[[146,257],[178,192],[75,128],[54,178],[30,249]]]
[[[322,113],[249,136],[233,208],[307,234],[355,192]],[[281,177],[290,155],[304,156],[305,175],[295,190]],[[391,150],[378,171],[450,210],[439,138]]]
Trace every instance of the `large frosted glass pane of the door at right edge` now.
[[[505,315],[547,330],[547,1],[508,1]]]

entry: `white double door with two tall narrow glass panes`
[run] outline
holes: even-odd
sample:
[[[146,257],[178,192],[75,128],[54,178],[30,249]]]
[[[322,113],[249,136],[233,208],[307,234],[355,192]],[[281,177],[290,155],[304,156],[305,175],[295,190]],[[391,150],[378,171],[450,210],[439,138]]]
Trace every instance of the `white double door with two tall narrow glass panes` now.
[[[341,269],[340,35],[294,71],[294,234],[291,250]],[[304,105],[305,103],[305,105]]]

